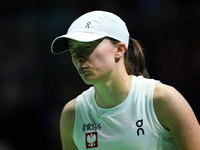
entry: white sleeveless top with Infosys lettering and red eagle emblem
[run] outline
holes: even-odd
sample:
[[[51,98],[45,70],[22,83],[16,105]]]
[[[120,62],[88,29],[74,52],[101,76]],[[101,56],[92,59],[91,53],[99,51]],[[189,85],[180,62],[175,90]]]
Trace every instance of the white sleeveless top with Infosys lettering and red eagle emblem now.
[[[73,139],[80,150],[177,150],[172,136],[158,122],[153,108],[156,80],[132,76],[127,98],[101,108],[94,87],[77,97]]]

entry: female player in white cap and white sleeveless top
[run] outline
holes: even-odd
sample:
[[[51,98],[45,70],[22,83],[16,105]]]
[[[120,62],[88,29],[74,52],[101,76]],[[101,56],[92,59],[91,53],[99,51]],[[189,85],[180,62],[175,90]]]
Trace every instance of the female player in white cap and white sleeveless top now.
[[[175,88],[149,78],[142,48],[121,18],[86,13],[51,50],[70,51],[79,75],[92,85],[63,109],[63,150],[200,150],[193,110]]]

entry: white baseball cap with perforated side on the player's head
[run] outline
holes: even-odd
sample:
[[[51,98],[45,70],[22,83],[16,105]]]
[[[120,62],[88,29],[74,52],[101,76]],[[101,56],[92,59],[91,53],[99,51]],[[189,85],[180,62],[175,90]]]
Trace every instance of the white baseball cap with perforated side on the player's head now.
[[[125,22],[117,15],[106,11],[92,11],[80,16],[69,27],[67,34],[54,39],[51,51],[54,54],[68,51],[68,39],[91,42],[110,37],[129,44],[129,32]]]

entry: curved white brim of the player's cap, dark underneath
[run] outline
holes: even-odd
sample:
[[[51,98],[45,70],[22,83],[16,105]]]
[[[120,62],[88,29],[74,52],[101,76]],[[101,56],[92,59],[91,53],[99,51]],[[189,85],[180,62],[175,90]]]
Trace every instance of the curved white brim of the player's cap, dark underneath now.
[[[102,34],[92,34],[83,32],[74,32],[57,37],[51,44],[51,52],[60,54],[68,51],[68,39],[73,39],[80,42],[91,42],[105,37]]]

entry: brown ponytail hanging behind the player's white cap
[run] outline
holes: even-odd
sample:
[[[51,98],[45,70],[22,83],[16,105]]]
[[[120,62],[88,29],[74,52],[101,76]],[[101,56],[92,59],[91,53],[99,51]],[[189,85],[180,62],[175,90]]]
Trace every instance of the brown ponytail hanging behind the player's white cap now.
[[[145,78],[149,78],[145,56],[137,40],[132,38],[129,39],[128,50],[126,50],[124,55],[125,67],[129,75],[142,75]]]

